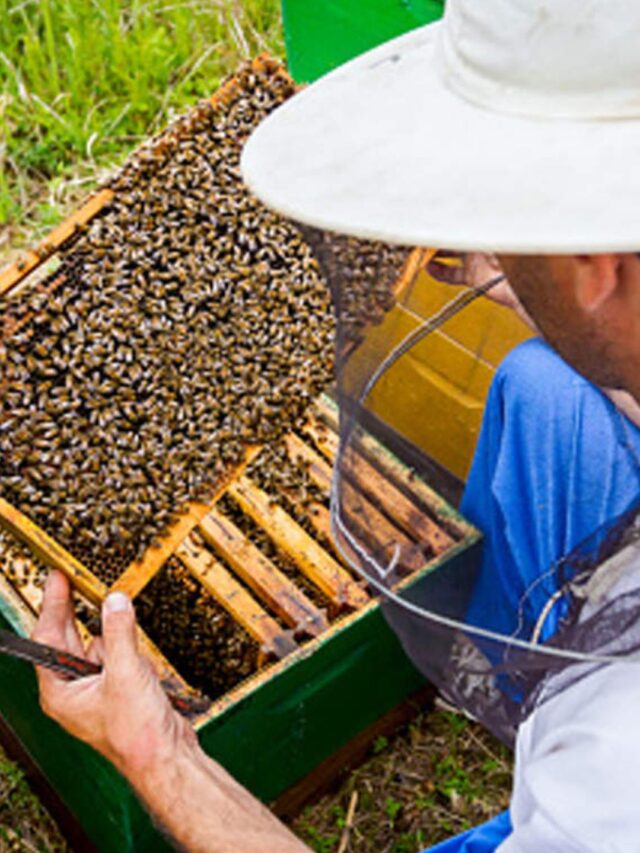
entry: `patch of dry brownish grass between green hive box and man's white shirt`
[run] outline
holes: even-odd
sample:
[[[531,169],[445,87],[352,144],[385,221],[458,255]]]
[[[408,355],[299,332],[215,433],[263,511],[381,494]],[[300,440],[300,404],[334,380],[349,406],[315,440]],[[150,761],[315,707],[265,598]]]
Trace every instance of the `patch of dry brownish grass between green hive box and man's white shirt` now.
[[[430,711],[390,738],[293,829],[316,853],[416,853],[507,807],[512,758],[480,726]],[[356,808],[347,828],[349,804]]]

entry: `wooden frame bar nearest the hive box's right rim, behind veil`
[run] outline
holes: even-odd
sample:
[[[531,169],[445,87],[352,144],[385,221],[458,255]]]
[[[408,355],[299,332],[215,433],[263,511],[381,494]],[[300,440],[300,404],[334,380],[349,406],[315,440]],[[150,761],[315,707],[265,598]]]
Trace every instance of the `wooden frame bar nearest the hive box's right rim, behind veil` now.
[[[317,445],[327,458],[335,458],[338,448],[338,436],[332,430],[318,428],[311,420],[305,424],[304,432]],[[360,442],[362,444],[362,442]],[[367,449],[375,446],[373,440],[367,444]],[[364,449],[364,445],[363,448]],[[350,452],[357,452],[351,450]],[[451,536],[443,530],[425,512],[421,511],[400,489],[393,485],[393,480],[381,474],[362,453],[358,453],[357,464],[350,466],[349,476],[358,486],[358,492],[375,499],[385,507],[394,521],[400,525],[412,538],[426,542],[435,555],[442,554],[453,544]],[[347,487],[343,479],[344,486]]]

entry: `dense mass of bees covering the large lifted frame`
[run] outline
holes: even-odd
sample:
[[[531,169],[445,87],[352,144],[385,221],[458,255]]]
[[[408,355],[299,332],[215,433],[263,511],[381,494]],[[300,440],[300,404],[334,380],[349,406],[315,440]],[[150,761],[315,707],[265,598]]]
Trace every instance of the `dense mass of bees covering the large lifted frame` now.
[[[332,375],[317,262],[239,175],[291,88],[250,68],[239,83],[125,165],[51,295],[6,306],[0,488],[107,581]]]

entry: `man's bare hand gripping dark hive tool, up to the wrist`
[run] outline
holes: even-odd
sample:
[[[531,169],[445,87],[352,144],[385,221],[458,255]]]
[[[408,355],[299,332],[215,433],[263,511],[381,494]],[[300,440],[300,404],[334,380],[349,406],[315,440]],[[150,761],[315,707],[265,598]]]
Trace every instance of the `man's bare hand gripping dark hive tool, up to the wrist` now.
[[[103,635],[87,652],[76,630],[69,583],[52,572],[45,588],[35,640],[103,664],[99,675],[67,681],[38,668],[40,702],[61,726],[102,753],[135,781],[169,758],[176,745],[195,741],[189,724],[171,707],[155,671],[138,651],[133,606],[112,593],[102,608]]]

